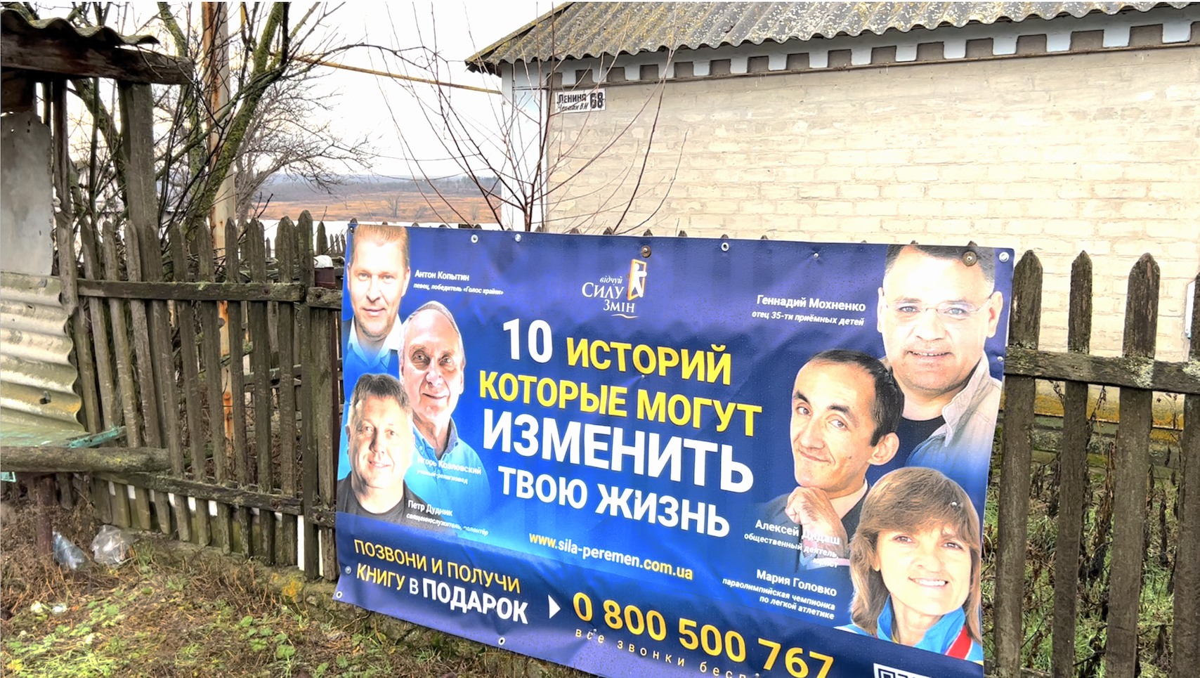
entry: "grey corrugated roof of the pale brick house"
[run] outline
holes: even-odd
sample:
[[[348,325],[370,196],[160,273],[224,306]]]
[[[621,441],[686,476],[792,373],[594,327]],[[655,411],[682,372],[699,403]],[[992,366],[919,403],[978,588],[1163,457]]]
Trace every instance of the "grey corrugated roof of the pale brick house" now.
[[[1145,12],[1158,5],[1188,2],[566,2],[468,58],[467,65],[494,72],[517,61]]]

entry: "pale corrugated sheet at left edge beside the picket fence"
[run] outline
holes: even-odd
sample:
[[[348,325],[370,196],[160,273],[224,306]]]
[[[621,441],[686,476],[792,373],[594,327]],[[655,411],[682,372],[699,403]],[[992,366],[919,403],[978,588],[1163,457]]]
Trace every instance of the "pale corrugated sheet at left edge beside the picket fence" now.
[[[64,444],[79,424],[77,371],[56,277],[0,271],[0,436],[6,445]]]

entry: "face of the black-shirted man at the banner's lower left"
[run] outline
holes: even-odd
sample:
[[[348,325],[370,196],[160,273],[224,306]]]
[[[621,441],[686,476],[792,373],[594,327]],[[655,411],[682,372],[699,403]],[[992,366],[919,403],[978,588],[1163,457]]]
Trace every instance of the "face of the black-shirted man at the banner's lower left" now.
[[[412,420],[400,403],[390,397],[364,398],[350,414],[347,440],[355,488],[360,493],[395,491],[400,500],[413,457]]]

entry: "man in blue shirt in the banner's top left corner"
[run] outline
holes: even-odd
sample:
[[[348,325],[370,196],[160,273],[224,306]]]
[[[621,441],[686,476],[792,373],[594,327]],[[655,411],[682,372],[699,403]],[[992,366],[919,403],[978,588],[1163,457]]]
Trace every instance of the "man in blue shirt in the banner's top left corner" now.
[[[342,323],[342,372],[347,384],[367,372],[398,377],[400,302],[409,274],[404,227],[355,227],[346,252],[346,289],[354,313]]]

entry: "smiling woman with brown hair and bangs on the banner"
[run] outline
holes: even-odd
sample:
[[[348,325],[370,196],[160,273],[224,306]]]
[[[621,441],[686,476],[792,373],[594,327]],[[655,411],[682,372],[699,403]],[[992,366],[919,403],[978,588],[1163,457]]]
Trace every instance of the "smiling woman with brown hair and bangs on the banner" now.
[[[853,624],[844,630],[983,662],[979,515],[958,484],[923,467],[884,475],[850,553]]]

